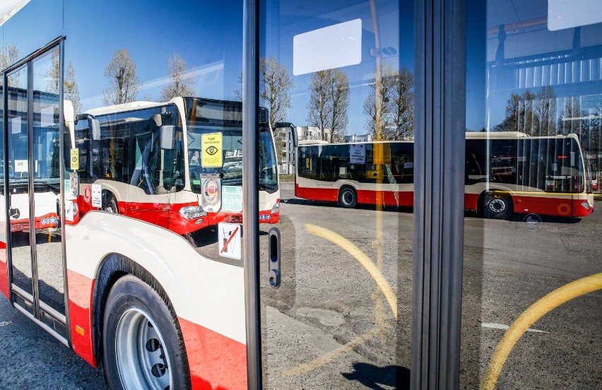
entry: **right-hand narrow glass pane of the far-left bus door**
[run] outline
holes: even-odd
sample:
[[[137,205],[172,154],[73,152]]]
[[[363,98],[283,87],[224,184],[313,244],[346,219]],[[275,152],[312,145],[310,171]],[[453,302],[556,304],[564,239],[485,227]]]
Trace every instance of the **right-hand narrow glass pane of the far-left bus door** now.
[[[61,204],[59,74],[54,49],[33,62],[33,186],[37,286],[40,300],[65,313]]]

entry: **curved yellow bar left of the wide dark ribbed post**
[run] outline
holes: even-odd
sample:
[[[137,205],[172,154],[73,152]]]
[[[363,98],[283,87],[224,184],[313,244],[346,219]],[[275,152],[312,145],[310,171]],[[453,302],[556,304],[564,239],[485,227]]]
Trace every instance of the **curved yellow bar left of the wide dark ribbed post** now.
[[[364,252],[362,252],[362,249],[358,248],[355,246],[355,244],[353,244],[353,242],[350,242],[345,237],[336,234],[332,230],[321,228],[320,226],[309,223],[305,224],[305,230],[312,235],[317,235],[318,237],[322,237],[325,240],[329,240],[330,242],[337,244],[342,249],[345,249],[351,256],[355,257],[355,259],[357,259],[360,264],[366,268],[366,271],[370,273],[370,276],[372,276],[374,281],[377,283],[378,287],[384,294],[386,301],[389,302],[389,306],[391,307],[391,311],[393,312],[395,319],[397,319],[397,297],[391,288],[391,285],[389,285],[389,282],[387,282],[384,278],[382,272],[377,268],[377,266],[374,265],[372,260],[370,260],[370,258],[366,256]]]

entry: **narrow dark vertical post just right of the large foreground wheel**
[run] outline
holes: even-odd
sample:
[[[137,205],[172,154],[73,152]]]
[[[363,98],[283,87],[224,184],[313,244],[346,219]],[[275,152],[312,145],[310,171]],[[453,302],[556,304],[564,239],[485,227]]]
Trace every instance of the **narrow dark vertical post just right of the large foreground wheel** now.
[[[247,386],[261,389],[259,307],[259,0],[243,1],[242,248],[247,322]]]

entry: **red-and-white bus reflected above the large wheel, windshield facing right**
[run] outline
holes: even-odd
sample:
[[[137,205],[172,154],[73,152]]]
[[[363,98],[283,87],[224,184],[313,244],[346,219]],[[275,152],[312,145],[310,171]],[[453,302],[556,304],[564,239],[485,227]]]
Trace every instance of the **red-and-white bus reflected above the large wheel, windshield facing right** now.
[[[189,234],[221,221],[242,221],[242,103],[205,98],[131,102],[79,114],[69,124],[77,149],[80,191],[73,220],[100,208]],[[69,116],[67,116],[69,117]],[[276,150],[261,109],[259,220],[277,223]],[[73,126],[75,125],[75,126]],[[217,134],[218,165],[206,164],[203,136]],[[65,158],[71,151],[65,150]],[[100,186],[100,189],[98,188]],[[71,218],[69,218],[71,219]]]

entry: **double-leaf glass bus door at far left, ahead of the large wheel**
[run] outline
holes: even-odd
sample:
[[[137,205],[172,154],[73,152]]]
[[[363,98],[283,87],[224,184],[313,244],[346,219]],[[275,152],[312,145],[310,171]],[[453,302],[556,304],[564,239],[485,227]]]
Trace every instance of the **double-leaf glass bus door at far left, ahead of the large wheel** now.
[[[4,76],[11,300],[66,341],[59,98],[62,42]]]

